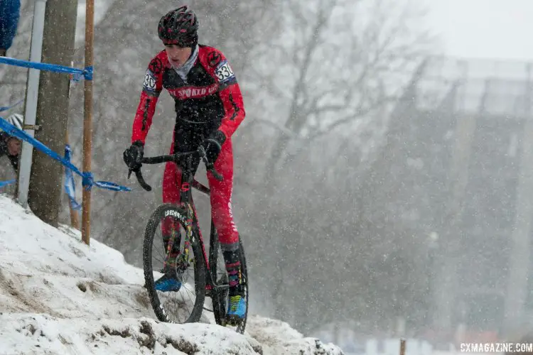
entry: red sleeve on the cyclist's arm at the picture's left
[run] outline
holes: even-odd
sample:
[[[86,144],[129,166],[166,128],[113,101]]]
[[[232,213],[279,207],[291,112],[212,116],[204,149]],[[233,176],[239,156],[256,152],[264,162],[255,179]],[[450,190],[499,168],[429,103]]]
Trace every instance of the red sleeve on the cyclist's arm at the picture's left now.
[[[141,99],[135,114],[131,143],[141,141],[143,144],[152,124],[152,118],[156,111],[156,104],[163,89],[163,61],[161,53],[151,60],[141,92]]]

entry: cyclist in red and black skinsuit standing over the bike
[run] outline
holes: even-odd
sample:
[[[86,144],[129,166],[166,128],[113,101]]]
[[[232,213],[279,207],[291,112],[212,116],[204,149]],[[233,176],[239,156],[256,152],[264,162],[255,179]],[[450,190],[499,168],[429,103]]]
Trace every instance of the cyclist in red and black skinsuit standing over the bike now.
[[[239,234],[232,216],[233,149],[231,136],[244,119],[244,103],[235,74],[225,56],[215,48],[198,44],[198,18],[188,6],[169,11],[158,24],[158,35],[165,46],[149,63],[137,108],[131,146],[124,151],[124,162],[131,170],[141,167],[144,143],[156,103],[163,88],[175,100],[176,124],[171,153],[205,149],[208,167],[220,172],[222,181],[208,172],[212,219],[218,231],[226,271],[229,275],[230,322],[246,313],[241,286]],[[196,158],[195,168],[198,168]],[[179,164],[185,166],[184,164]],[[194,172],[193,172],[194,173]],[[181,170],[166,163],[163,175],[163,203],[178,203]],[[163,221],[163,239],[168,242],[172,229]],[[178,251],[171,253],[176,260]],[[176,291],[181,283],[170,270],[156,280],[156,289]]]

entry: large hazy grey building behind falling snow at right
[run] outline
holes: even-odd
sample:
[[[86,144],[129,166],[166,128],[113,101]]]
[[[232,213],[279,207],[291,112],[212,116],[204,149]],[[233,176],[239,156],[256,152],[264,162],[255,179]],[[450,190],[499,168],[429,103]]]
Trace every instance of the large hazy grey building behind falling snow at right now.
[[[427,337],[502,339],[531,315],[532,69],[433,58],[392,113],[370,218],[426,236]]]

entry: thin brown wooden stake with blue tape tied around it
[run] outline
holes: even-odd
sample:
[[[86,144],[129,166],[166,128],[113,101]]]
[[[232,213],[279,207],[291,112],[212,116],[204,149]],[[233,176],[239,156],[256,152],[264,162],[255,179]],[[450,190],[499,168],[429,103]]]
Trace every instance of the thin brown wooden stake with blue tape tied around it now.
[[[95,0],[87,0],[85,6],[85,67],[92,67],[92,40],[95,23]],[[85,80],[85,100],[83,120],[83,172],[91,171],[92,150],[92,80]],[[83,189],[82,197],[82,241],[90,244],[91,192]]]

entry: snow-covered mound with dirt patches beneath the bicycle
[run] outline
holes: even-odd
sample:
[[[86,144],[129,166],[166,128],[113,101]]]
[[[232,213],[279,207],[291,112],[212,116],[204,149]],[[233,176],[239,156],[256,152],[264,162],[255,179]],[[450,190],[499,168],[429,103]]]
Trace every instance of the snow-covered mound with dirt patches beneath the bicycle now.
[[[139,268],[0,195],[0,354],[342,354],[289,324],[249,317],[246,334],[155,319]]]

